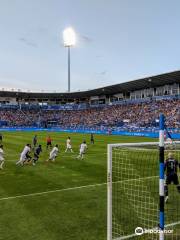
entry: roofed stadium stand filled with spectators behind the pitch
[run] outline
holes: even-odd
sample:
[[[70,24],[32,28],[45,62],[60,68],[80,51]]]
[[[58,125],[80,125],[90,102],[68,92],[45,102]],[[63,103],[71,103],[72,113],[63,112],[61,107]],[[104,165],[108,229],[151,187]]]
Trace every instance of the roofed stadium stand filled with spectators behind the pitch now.
[[[0,125],[153,129],[180,122],[180,71],[76,93],[0,92]]]

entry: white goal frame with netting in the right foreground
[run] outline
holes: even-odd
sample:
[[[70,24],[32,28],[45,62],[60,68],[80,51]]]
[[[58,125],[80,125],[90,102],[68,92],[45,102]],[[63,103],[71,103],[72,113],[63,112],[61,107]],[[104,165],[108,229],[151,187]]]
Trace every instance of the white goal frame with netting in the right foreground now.
[[[159,239],[159,143],[108,145],[108,240]],[[180,144],[165,145],[180,163]],[[164,181],[165,182],[165,181]],[[165,237],[180,239],[180,193],[168,185]]]

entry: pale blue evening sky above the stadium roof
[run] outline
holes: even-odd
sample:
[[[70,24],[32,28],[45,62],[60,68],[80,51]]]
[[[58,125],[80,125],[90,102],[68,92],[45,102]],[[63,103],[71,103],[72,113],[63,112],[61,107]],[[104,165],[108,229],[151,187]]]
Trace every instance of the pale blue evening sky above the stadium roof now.
[[[179,0],[0,0],[0,89],[66,92],[180,69]]]

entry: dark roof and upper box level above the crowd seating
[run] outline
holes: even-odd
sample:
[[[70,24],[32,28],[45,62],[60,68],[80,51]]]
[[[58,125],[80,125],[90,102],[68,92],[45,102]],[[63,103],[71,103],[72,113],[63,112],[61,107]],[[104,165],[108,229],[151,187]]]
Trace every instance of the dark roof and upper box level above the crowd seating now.
[[[0,104],[59,105],[86,103],[100,105],[156,97],[178,97],[179,95],[180,71],[174,71],[94,90],[71,93],[34,93],[21,92],[20,90],[1,90]]]

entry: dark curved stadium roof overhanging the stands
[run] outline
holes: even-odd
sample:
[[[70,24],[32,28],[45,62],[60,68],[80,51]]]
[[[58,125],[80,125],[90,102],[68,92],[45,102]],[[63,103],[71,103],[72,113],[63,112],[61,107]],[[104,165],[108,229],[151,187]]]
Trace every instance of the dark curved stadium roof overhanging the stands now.
[[[33,93],[19,91],[0,91],[1,97],[16,97],[22,99],[83,99],[91,96],[113,95],[118,93],[128,93],[134,90],[145,88],[155,88],[166,84],[180,83],[180,71],[174,71],[161,75],[146,77],[134,81],[115,84],[107,87],[97,88],[89,91],[79,91],[71,93]]]

